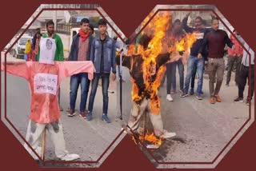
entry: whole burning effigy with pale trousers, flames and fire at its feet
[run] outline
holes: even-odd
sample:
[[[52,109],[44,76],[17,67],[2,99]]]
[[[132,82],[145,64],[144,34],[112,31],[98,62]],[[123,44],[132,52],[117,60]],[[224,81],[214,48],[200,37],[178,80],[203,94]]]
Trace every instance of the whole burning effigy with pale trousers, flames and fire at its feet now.
[[[176,133],[163,129],[162,124],[158,89],[166,72],[165,64],[186,58],[196,40],[193,34],[186,34],[172,42],[171,34],[168,34],[171,21],[170,12],[158,12],[138,35],[137,43],[131,43],[126,54],[122,55],[122,66],[130,70],[132,82],[132,109],[127,132],[138,133],[140,141],[158,146],[162,139],[176,136]],[[118,65],[119,58],[120,54],[117,55]],[[149,133],[145,126],[140,128],[144,115],[149,115],[154,133]]]

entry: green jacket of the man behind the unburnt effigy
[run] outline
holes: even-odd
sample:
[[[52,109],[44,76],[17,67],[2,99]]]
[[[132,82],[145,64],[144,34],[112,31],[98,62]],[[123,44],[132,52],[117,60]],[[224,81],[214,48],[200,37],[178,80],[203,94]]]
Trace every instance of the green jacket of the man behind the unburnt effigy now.
[[[48,34],[43,34],[42,38],[48,38]],[[56,43],[54,61],[62,62],[64,61],[64,50],[63,50],[62,39],[59,37],[58,34],[54,34],[53,38],[55,39],[55,43]],[[39,58],[40,58],[40,46],[38,48],[38,58],[36,59],[37,62],[39,61]]]

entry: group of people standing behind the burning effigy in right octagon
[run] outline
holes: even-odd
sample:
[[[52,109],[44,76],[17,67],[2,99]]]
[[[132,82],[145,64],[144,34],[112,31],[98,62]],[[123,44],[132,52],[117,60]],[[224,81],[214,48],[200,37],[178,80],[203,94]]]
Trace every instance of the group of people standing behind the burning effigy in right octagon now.
[[[230,85],[230,78],[232,69],[235,67],[235,83],[238,86],[238,97],[234,102],[243,101],[243,92],[246,86],[246,80],[250,78],[250,92],[248,89],[248,96],[246,98],[246,105],[254,94],[254,54],[250,47],[246,45],[241,36],[236,30],[230,34],[230,38],[226,31],[219,29],[219,19],[212,15],[211,28],[206,28],[206,21],[200,16],[194,18],[194,27],[187,24],[190,13],[181,20],[176,19],[172,23],[172,27],[168,30],[171,42],[180,41],[186,34],[194,34],[196,41],[190,49],[190,56],[188,60],[179,59],[175,62],[166,64],[166,99],[174,101],[171,96],[176,91],[176,70],[178,68],[179,75],[179,90],[181,97],[187,97],[195,93],[198,100],[202,100],[202,84],[203,74],[209,74],[209,91],[210,103],[214,104],[216,101],[221,102],[220,90],[222,81],[224,79],[226,46],[228,52],[228,70],[226,76],[226,86]],[[244,46],[244,48],[243,48]],[[247,53],[250,52],[251,56]],[[184,66],[187,63],[186,78],[184,76]],[[249,66],[251,74],[249,74]],[[194,80],[198,78],[198,88],[194,92]],[[163,79],[164,82],[164,79]],[[191,83],[190,83],[191,82]]]

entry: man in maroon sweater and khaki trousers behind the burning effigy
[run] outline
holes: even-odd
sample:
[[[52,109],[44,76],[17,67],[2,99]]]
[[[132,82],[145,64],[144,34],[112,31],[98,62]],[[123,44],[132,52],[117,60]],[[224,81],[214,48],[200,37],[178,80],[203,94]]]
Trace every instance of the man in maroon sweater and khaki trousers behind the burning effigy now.
[[[208,46],[208,72],[209,72],[209,89],[210,89],[210,103],[214,104],[216,101],[221,102],[222,99],[218,95],[223,81],[225,62],[224,47],[227,45],[234,48],[234,44],[226,34],[226,31],[219,30],[218,18],[213,18],[211,21],[210,32],[206,34],[202,42],[202,47],[199,50],[198,58],[202,58],[202,50]],[[214,89],[215,77],[217,74],[217,83]]]

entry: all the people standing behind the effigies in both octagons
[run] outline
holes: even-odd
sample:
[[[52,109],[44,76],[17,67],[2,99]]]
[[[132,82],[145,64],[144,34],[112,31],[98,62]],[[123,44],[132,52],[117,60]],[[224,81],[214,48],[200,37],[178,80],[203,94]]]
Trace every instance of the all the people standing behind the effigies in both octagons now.
[[[230,34],[230,38],[226,31],[219,30],[219,20],[212,15],[211,28],[206,28],[206,21],[200,16],[194,18],[194,27],[187,24],[190,13],[181,20],[176,19],[170,30],[168,30],[167,38],[171,38],[170,42],[180,41],[186,34],[194,34],[196,41],[190,49],[190,56],[187,60],[179,59],[178,61],[166,63],[166,99],[174,101],[171,94],[177,93],[176,89],[176,70],[178,68],[179,75],[179,91],[181,97],[194,95],[198,100],[202,100],[203,91],[203,74],[209,74],[209,90],[210,103],[214,104],[216,101],[221,102],[220,89],[224,78],[225,60],[224,54],[226,46],[228,46],[228,67],[226,76],[226,86],[230,85],[230,78],[232,69],[235,65],[235,83],[238,85],[238,97],[234,99],[235,102],[243,101],[243,91],[246,86],[246,79],[249,78],[249,65],[251,65],[250,84],[251,91],[246,98],[246,104],[250,104],[250,100],[254,94],[254,55],[249,54],[248,47],[242,40],[241,36],[236,30]],[[46,34],[41,34],[40,30],[36,30],[32,42],[26,42],[25,54],[27,61],[39,60],[39,42],[40,38],[54,38],[56,42],[55,61],[64,61],[62,39],[54,32],[54,22],[46,23]],[[98,87],[99,78],[102,78],[102,97],[103,109],[102,120],[110,123],[108,113],[108,87],[110,84],[110,73],[112,68],[112,77],[115,80],[116,76],[116,50],[121,49],[117,41],[118,37],[110,38],[106,34],[106,21],[100,19],[98,21],[99,37],[94,38],[94,26],[90,25],[87,18],[82,18],[80,22],[80,30],[73,38],[70,47],[70,55],[68,61],[92,61],[96,69],[94,80],[90,82],[86,73],[75,74],[70,78],[70,108],[67,110],[68,116],[73,117],[75,112],[75,104],[77,99],[78,87],[81,86],[81,101],[80,101],[80,116],[90,121],[93,117],[94,97]],[[187,64],[186,77],[184,74],[184,66]],[[120,67],[118,66],[118,71]],[[119,76],[120,76],[120,72]],[[194,92],[195,78],[198,78],[198,87]],[[89,94],[89,87],[91,91],[89,96],[88,109],[86,109],[87,98]],[[58,99],[60,101],[60,89],[58,91]],[[62,111],[62,106],[60,106]]]

